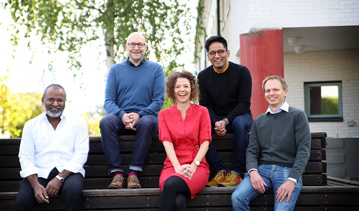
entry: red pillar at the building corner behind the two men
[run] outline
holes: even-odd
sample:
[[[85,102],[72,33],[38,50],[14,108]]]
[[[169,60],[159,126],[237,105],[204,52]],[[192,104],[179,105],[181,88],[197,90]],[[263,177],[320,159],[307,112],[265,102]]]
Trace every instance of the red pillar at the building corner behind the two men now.
[[[247,66],[252,75],[251,111],[255,118],[268,107],[262,89],[263,79],[270,75],[284,77],[283,30],[241,34],[240,63]]]

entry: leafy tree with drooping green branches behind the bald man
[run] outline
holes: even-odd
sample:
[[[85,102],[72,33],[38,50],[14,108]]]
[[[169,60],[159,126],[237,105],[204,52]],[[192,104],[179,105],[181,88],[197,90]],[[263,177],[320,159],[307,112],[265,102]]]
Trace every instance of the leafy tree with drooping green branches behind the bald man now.
[[[108,68],[122,61],[133,31],[144,32],[151,55],[172,70],[180,66],[181,36],[190,30],[188,5],[189,0],[7,0],[4,7],[10,8],[15,23],[26,26],[25,37],[34,31],[49,52],[68,51],[74,71],[81,67],[81,47],[98,39],[104,39]],[[14,44],[18,33],[13,34]]]

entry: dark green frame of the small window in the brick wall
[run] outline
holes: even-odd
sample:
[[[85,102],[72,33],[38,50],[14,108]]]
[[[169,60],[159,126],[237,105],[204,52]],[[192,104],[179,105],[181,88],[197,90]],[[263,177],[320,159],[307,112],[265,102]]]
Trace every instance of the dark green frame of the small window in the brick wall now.
[[[310,114],[311,87],[338,86],[338,114]],[[342,81],[304,82],[304,107],[308,121],[343,121]]]

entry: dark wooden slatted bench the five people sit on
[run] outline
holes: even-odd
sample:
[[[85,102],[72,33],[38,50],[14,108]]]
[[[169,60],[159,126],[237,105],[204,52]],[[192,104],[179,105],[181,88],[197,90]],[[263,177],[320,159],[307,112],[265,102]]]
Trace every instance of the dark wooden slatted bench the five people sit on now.
[[[351,210],[359,208],[359,184],[346,185],[343,181],[333,186],[328,184],[326,175],[326,133],[312,133],[311,156],[303,174],[303,189],[297,201],[296,211],[307,210]],[[131,160],[134,136],[119,137],[123,167],[127,175]],[[224,137],[213,135],[224,165],[229,169],[232,157],[233,135]],[[0,139],[0,210],[11,210],[14,205],[19,183],[20,165],[18,148],[20,139]],[[84,166],[86,170],[84,195],[86,210],[155,211],[158,209],[161,191],[159,175],[166,153],[158,136],[153,137],[151,149],[147,155],[144,172],[139,180],[142,189],[106,189],[112,178],[108,175],[105,156],[100,137],[90,137],[90,152]],[[333,178],[331,178],[334,180]],[[358,185],[358,186],[356,186]],[[188,211],[230,211],[230,196],[235,188],[204,188],[194,200],[187,200]],[[273,210],[273,192],[268,192],[251,202],[251,210]],[[343,207],[344,206],[344,207]],[[50,204],[41,204],[36,210],[63,210],[59,197],[50,199]],[[343,208],[343,209],[342,209]]]

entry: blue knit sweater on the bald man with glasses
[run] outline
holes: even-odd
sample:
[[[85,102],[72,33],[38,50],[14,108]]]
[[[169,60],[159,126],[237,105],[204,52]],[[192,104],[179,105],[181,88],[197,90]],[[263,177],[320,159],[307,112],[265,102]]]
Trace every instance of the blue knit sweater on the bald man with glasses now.
[[[129,62],[114,64],[108,73],[104,108],[122,118],[139,112],[157,116],[165,102],[165,74],[158,63],[145,60],[138,67]]]

